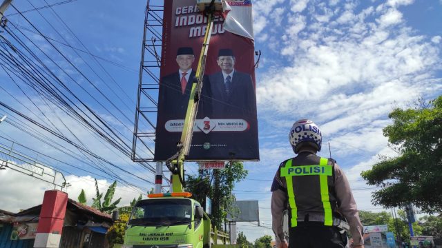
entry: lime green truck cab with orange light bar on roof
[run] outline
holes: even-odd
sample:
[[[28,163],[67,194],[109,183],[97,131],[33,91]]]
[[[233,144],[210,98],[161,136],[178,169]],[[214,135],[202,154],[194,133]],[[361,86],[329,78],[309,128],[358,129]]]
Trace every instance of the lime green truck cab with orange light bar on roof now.
[[[209,247],[210,220],[200,203],[176,195],[186,193],[152,194],[138,201],[128,220],[123,247]]]

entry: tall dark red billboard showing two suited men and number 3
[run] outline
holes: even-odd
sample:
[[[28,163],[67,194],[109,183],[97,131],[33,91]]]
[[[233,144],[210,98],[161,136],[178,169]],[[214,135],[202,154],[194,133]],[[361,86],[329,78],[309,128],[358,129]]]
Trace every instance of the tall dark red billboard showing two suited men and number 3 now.
[[[227,3],[211,30],[188,161],[259,160],[251,1]],[[164,1],[155,161],[177,152],[206,26],[195,0]]]

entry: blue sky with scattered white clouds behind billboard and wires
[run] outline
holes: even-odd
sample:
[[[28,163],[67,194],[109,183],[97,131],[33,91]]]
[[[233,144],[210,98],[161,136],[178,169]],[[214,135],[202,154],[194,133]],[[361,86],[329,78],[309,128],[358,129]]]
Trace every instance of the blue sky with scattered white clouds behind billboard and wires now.
[[[13,4],[21,11],[34,8],[28,1],[15,1]],[[43,0],[32,1],[32,4],[35,7],[46,6]],[[81,76],[35,31],[29,32],[32,27],[23,17],[14,14],[13,8],[8,9],[6,17],[41,48],[41,51],[37,51],[30,41],[26,41],[39,57],[44,58],[59,79],[131,141],[145,6],[145,1],[122,4],[117,1],[77,0],[53,7],[99,61],[98,64],[90,55],[77,51],[80,58],[66,45],[52,42],[86,77]],[[310,118],[323,131],[324,149],[320,155],[329,156],[330,143],[332,157],[343,167],[352,188],[356,189],[354,196],[358,207],[367,211],[381,211],[381,207],[370,203],[372,188],[367,189],[359,175],[378,161],[378,154],[395,155],[382,135],[382,128],[390,123],[388,113],[394,107],[412,106],[419,97],[434,99],[442,92],[442,1],[256,0],[253,6],[256,50],[262,51],[260,67],[256,70],[261,161],[245,163],[249,176],[237,185],[236,197],[238,200],[260,200],[261,224],[270,227],[271,179],[280,161],[294,156],[287,141],[289,128],[300,118]],[[39,12],[27,12],[25,16],[46,37],[86,50],[50,8],[40,10],[40,13],[50,24]],[[8,27],[18,32],[14,25]],[[16,43],[9,34],[3,32],[1,35]],[[42,52],[46,52],[55,63],[50,63]],[[60,110],[51,110],[34,90],[17,81],[26,89],[32,103],[35,103],[32,104],[3,69],[0,70],[0,80],[3,87],[0,88],[1,102],[42,123],[50,125],[48,120],[51,120],[66,136],[75,138],[75,134],[85,147],[96,154],[128,172],[153,180],[151,172],[134,165],[130,158],[112,147],[103,145],[99,138]],[[115,107],[94,86],[111,99]],[[47,119],[41,117],[37,106],[48,114]],[[30,110],[26,110],[26,107]],[[20,120],[19,116],[4,107],[0,107],[2,114],[8,114],[8,120],[12,122]],[[64,125],[72,133],[67,132]],[[12,123],[0,124],[0,136],[3,137],[3,145],[11,145],[4,139],[6,137],[59,161],[102,174],[90,164],[81,163],[35,140]],[[51,138],[59,142],[57,138]],[[66,148],[81,157],[72,146],[66,145]],[[64,175],[73,185],[68,189],[71,198],[77,198],[81,188],[86,189],[86,194],[90,196],[88,198],[92,198],[93,178],[96,175],[42,155],[37,156],[29,149],[23,149],[23,152],[66,171]],[[123,197],[123,203],[153,187],[115,167],[99,165],[106,172],[123,176],[125,180],[140,186],[140,189],[134,189],[121,183],[117,195]],[[189,165],[187,172],[195,173],[195,165]],[[111,183],[109,178],[99,179],[102,189]],[[15,184],[17,182],[19,186]],[[41,203],[44,190],[51,188],[17,172],[2,170],[0,209],[17,211],[37,205]],[[23,197],[29,200],[23,203],[19,200]],[[254,225],[238,224],[238,231],[244,231],[251,241],[263,234],[272,234],[270,229]]]

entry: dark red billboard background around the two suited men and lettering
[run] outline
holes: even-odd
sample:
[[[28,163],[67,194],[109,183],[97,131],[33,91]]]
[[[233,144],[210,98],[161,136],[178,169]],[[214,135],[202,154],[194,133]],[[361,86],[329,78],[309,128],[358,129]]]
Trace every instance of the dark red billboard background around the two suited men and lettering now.
[[[180,23],[181,18],[202,18],[200,12],[183,12],[189,11],[190,9],[195,9],[195,0],[165,0],[164,1],[164,18],[163,18],[163,41],[162,41],[162,66],[160,70],[160,92],[159,92],[159,106],[158,106],[158,117],[157,117],[157,136],[155,140],[155,161],[165,161],[167,158],[175,154],[176,142],[180,140],[180,132],[168,132],[164,125],[167,121],[173,119],[184,119],[184,114],[182,117],[171,116],[169,113],[173,112],[174,107],[171,107],[169,100],[164,100],[164,96],[168,94],[171,90],[177,91],[177,88],[171,89],[171,85],[164,85],[164,77],[171,75],[178,71],[178,66],[176,62],[177,50],[182,47],[191,47],[195,55],[195,62],[192,65],[193,71],[197,69],[198,58],[200,56],[202,42],[204,39],[203,33],[198,37],[189,37],[192,28],[204,29],[207,23],[193,24],[193,25],[182,25],[175,26],[176,23]],[[244,7],[245,8],[245,7]],[[251,8],[251,7],[249,7]],[[184,10],[184,11],[183,11]],[[193,17],[191,17],[193,16]],[[199,16],[199,17],[198,17]],[[177,21],[177,19],[179,19]],[[250,20],[251,21],[251,20]],[[247,103],[247,107],[252,107],[251,112],[247,114],[237,114],[236,116],[226,117],[227,119],[236,119],[247,121],[247,130],[240,132],[209,132],[205,134],[204,132],[194,132],[192,139],[192,146],[189,156],[187,157],[190,161],[213,161],[213,160],[252,160],[256,161],[259,159],[258,152],[258,126],[256,120],[256,97],[255,97],[255,72],[254,72],[254,45],[253,40],[247,39],[245,37],[232,34],[222,27],[223,19],[218,17],[215,19],[214,28],[216,30],[212,32],[211,41],[209,44],[209,52],[206,58],[206,69],[204,75],[207,75],[207,79],[204,80],[202,94],[207,101],[213,99],[206,90],[210,89],[209,75],[220,72],[220,66],[217,63],[218,51],[220,49],[229,48],[233,51],[235,55],[235,65],[234,68],[238,72],[244,72],[251,76],[251,83],[253,84],[253,97],[251,97]],[[224,30],[224,32],[223,32]],[[222,33],[220,33],[222,32]],[[190,81],[190,80],[189,80]],[[178,84],[177,82],[176,84]],[[190,83],[190,82],[189,82]],[[173,86],[172,86],[173,87]],[[244,97],[247,93],[244,93]],[[249,92],[249,95],[250,92]],[[186,97],[188,101],[189,97]],[[166,103],[169,101],[169,103]],[[173,101],[178,101],[173,99]],[[184,101],[183,101],[184,102]],[[200,101],[201,102],[201,101]],[[200,103],[204,105],[205,103]],[[211,103],[205,104],[211,110],[207,110],[200,106],[198,108],[197,119],[202,119],[204,117],[220,119],[223,116],[216,113],[215,106],[224,104],[219,101],[213,101]],[[229,103],[226,103],[229,104]],[[182,103],[183,105],[183,103]],[[186,107],[186,106],[185,106]],[[209,145],[208,145],[209,144]],[[209,148],[208,148],[209,147]]]

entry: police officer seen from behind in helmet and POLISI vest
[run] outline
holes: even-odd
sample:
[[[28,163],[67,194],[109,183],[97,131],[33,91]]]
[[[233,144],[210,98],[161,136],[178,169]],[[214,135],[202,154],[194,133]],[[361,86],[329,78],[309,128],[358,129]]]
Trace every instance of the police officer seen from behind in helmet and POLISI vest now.
[[[332,158],[316,155],[322,139],[313,121],[302,119],[291,127],[289,141],[298,156],[280,164],[271,185],[272,227],[278,248],[345,247],[348,228],[353,247],[364,247],[363,227],[347,177]],[[282,231],[285,209],[289,212],[288,244]]]

